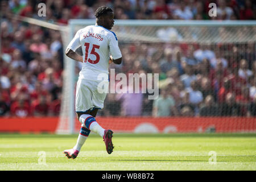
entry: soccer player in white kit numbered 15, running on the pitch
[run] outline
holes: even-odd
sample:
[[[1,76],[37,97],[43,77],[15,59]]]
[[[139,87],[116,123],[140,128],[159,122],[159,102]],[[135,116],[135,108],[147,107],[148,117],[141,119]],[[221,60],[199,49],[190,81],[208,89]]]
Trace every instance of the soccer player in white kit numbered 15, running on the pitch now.
[[[113,10],[102,6],[96,10],[95,16],[96,24],[77,31],[65,52],[71,59],[82,62],[76,87],[76,113],[82,125],[76,145],[72,149],[64,150],[69,159],[77,157],[90,131],[101,135],[108,154],[111,154],[114,148],[113,131],[103,129],[95,119],[98,109],[104,107],[106,97],[106,93],[99,93],[97,90],[98,84],[102,82],[97,77],[101,73],[109,74],[109,63],[112,61],[121,64],[122,54],[117,36],[110,31],[114,26]],[[80,46],[82,56],[75,52]],[[104,81],[108,82],[109,78]]]

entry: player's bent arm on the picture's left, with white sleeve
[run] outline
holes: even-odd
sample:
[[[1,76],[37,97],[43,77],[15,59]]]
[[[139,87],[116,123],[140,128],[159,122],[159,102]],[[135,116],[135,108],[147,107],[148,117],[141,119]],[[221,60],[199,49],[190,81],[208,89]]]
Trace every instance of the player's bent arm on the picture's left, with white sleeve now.
[[[80,30],[76,32],[76,35],[74,38],[71,40],[71,42],[68,44],[68,47],[65,51],[65,55],[70,57],[73,60],[83,62],[82,61],[82,56],[76,53],[76,49],[81,46],[80,43]]]

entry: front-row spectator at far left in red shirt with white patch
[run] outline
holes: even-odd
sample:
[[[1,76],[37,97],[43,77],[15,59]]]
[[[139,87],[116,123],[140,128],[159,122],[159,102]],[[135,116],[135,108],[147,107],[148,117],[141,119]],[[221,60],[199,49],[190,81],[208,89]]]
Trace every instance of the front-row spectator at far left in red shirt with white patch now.
[[[24,94],[20,94],[17,101],[11,104],[11,116],[14,117],[28,117],[31,115],[30,103],[26,101]]]

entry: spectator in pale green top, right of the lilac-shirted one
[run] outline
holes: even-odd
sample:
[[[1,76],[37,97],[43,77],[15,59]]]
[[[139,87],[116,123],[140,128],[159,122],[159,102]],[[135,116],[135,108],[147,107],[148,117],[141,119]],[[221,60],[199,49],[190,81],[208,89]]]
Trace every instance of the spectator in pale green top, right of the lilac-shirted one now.
[[[176,115],[175,100],[168,95],[167,88],[161,89],[160,96],[153,102],[153,116],[167,117]]]

